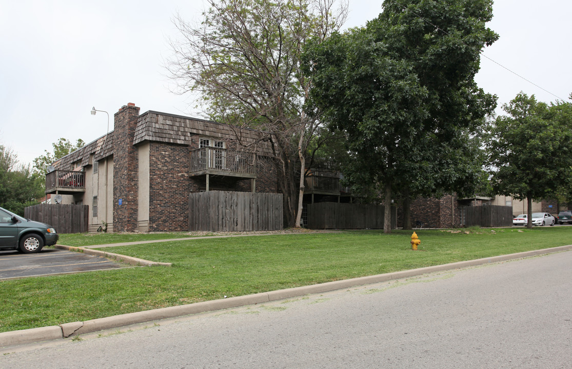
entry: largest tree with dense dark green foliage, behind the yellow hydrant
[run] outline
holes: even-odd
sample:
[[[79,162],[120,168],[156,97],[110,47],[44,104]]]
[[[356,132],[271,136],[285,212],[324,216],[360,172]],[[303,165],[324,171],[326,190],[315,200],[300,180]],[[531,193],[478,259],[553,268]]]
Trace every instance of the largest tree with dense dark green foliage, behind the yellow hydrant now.
[[[484,26],[491,18],[490,0],[386,1],[366,27],[307,48],[313,103],[347,137],[348,177],[383,186],[385,232],[394,191],[409,198],[480,177],[471,137],[495,97],[474,77],[498,38]]]

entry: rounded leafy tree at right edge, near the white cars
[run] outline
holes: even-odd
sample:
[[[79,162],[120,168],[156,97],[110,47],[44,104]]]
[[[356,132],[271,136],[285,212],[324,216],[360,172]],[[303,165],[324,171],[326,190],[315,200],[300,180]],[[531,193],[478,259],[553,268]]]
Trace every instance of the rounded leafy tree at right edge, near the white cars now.
[[[572,178],[572,106],[547,105],[519,93],[503,106],[491,130],[492,187],[503,195],[527,199],[528,227],[532,202],[555,195]]]

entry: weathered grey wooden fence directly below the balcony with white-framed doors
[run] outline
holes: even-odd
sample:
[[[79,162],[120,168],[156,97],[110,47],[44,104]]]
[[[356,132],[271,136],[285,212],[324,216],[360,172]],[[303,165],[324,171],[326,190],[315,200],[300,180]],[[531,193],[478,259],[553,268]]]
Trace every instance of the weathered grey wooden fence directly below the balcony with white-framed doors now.
[[[207,191],[189,195],[190,231],[272,231],[283,228],[282,194]]]

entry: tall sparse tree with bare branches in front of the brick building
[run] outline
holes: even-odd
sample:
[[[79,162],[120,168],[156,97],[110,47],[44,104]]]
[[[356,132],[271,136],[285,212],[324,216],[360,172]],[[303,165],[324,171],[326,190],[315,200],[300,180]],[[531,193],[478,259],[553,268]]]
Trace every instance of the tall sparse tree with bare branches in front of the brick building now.
[[[285,224],[299,226],[304,158],[319,125],[304,111],[311,81],[300,69],[300,54],[309,38],[323,40],[340,28],[347,5],[334,14],[335,0],[207,2],[200,25],[177,17],[181,38],[172,42],[169,71],[181,93],[201,95],[210,119],[236,127],[245,149],[269,143]],[[260,142],[248,147],[243,128],[263,132]]]

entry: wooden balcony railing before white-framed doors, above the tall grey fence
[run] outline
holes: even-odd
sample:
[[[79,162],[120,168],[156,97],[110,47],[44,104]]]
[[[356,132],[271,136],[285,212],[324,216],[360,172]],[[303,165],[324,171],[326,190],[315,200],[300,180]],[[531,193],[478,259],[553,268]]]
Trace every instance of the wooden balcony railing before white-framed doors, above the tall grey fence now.
[[[190,175],[215,174],[256,178],[255,154],[201,147],[190,152]]]

